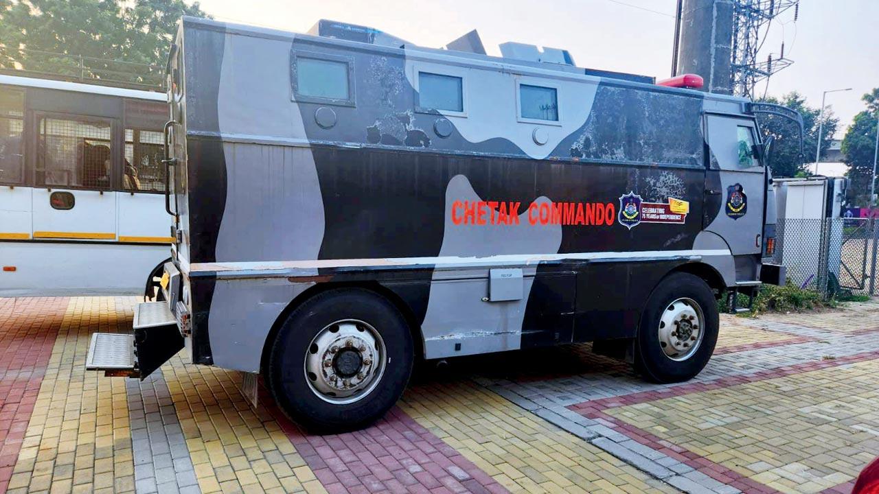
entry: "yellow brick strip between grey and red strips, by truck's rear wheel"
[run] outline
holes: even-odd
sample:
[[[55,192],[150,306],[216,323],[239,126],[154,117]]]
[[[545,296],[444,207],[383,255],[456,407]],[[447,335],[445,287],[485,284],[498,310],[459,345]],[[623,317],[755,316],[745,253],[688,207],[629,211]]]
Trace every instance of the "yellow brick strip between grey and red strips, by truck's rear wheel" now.
[[[181,352],[162,373],[203,493],[326,491],[278,423],[238,391],[240,374],[184,360]]]

